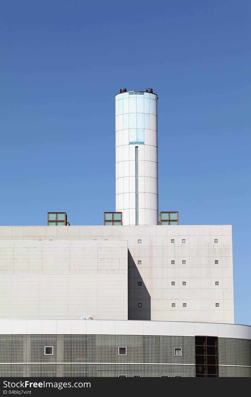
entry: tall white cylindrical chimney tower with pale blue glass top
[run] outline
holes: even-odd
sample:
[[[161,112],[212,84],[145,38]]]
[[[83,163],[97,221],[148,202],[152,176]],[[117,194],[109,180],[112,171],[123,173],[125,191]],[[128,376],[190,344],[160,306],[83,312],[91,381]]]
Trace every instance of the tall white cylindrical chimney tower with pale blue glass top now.
[[[158,225],[157,100],[121,89],[116,106],[116,212],[123,225]]]

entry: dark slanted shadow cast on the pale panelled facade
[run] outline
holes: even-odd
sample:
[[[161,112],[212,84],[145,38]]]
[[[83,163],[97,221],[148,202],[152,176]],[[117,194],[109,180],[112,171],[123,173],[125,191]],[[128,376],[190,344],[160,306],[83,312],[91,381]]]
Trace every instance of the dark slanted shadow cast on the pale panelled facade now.
[[[128,320],[151,320],[151,296],[140,271],[128,250]]]

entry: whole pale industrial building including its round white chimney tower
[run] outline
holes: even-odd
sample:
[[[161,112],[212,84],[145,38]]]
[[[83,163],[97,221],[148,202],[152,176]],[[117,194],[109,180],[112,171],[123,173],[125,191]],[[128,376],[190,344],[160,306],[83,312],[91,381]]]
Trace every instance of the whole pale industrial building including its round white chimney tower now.
[[[116,208],[102,225],[48,212],[46,226],[0,227],[0,376],[251,376],[231,225],[159,212],[157,101],[115,96]]]

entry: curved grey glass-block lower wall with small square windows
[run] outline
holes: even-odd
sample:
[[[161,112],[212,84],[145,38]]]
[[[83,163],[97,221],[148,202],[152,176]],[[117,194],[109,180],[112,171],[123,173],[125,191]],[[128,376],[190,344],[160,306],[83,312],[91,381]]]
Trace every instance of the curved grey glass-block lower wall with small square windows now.
[[[251,340],[215,336],[216,376],[251,376]],[[45,346],[53,346],[53,355],[44,355]],[[119,355],[119,347],[127,354]],[[194,377],[198,372],[195,336],[178,335],[5,334],[0,363],[2,377]]]

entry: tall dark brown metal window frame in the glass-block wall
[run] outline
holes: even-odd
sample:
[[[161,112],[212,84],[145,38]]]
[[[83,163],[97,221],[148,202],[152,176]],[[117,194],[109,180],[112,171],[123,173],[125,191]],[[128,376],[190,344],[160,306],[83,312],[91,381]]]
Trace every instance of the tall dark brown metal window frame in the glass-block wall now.
[[[201,344],[198,344],[198,343],[196,343],[196,337],[201,337],[201,338],[205,338],[205,343],[203,343],[203,345]],[[214,338],[215,339],[215,341],[216,341],[216,343],[214,344],[214,345],[212,345],[212,344],[210,344],[210,340],[209,340],[209,343],[207,343],[208,342],[208,338]],[[197,349],[197,352],[196,352],[196,347],[199,347],[199,346],[203,346],[204,347],[204,354],[198,354],[198,349]],[[207,351],[208,351],[208,349],[207,349],[207,347],[214,347],[215,348],[215,351],[216,351],[216,353],[215,354],[207,354]],[[196,357],[203,357],[204,358],[204,364],[199,364],[198,363],[198,359],[196,359]],[[208,364],[208,357],[214,357],[215,358],[215,364]],[[196,362],[197,361],[197,362]],[[201,360],[201,361],[203,361],[203,360]],[[199,366],[199,365],[201,365],[201,366],[203,366],[204,367],[204,374],[200,374],[200,373],[198,373],[198,372],[196,372],[196,369],[197,369],[197,366]],[[208,368],[207,367],[215,367],[216,368],[216,371],[215,371],[215,373],[208,373]],[[195,335],[195,376],[196,377],[204,377],[204,378],[207,378],[207,377],[218,377],[219,376],[219,364],[218,364],[218,337],[217,336],[204,336],[204,335]]]

